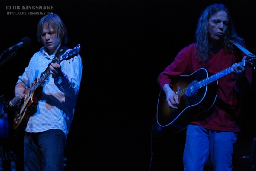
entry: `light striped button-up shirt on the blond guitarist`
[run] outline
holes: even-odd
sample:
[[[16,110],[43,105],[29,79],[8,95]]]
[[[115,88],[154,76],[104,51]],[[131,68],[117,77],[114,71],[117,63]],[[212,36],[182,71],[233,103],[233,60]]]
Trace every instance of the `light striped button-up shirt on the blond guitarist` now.
[[[55,53],[48,55],[42,47],[29,61],[23,75],[18,77],[17,84],[31,88],[36,78],[41,77],[48,64],[55,58]],[[69,51],[71,49],[68,49]],[[66,51],[66,52],[67,52]],[[49,129],[60,129],[68,134],[73,120],[76,101],[82,76],[81,56],[73,56],[60,63],[63,75],[53,78],[50,74],[40,85],[42,94],[36,106],[36,112],[30,116],[26,132],[43,132]]]

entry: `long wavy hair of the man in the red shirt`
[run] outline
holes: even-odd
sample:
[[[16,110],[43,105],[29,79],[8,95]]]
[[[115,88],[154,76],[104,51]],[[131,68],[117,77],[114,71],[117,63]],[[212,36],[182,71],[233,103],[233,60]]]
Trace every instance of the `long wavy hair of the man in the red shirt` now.
[[[236,33],[229,9],[227,9],[227,7],[221,3],[214,3],[204,9],[204,11],[201,13],[198,19],[197,29],[195,31],[195,39],[197,41],[196,54],[198,55],[198,59],[200,61],[207,61],[207,59],[211,56],[208,35],[208,20],[210,17],[212,17],[212,15],[215,15],[220,11],[227,12],[228,17],[227,31],[225,32],[224,40],[222,42],[224,49],[231,53],[233,52],[232,42],[244,43],[244,39],[239,37],[239,35]]]

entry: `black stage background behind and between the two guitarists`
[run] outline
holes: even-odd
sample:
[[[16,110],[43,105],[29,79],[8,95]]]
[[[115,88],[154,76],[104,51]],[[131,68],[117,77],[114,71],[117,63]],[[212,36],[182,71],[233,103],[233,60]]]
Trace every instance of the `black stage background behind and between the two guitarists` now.
[[[23,37],[31,38],[32,44],[18,49],[17,55],[0,66],[0,93],[7,99],[13,98],[17,77],[42,46],[36,39],[36,26],[43,15],[7,12],[56,13],[67,26],[68,46],[81,45],[84,66],[67,138],[65,170],[182,171],[185,131],[160,130],[154,120],[160,91],[157,76],[181,48],[194,42],[199,14],[215,2],[230,9],[237,32],[255,54],[254,0],[3,0],[0,53]],[[6,9],[6,6],[33,5],[54,6],[54,9]],[[7,56],[3,54],[0,62]],[[248,161],[241,157],[250,153],[255,136],[254,97],[253,80],[253,90],[244,100],[243,132],[234,157],[237,170],[247,166]],[[17,171],[22,171],[22,137],[13,138],[12,116],[8,118],[9,136],[1,144],[4,152],[14,151]],[[4,164],[8,162],[6,159]]]

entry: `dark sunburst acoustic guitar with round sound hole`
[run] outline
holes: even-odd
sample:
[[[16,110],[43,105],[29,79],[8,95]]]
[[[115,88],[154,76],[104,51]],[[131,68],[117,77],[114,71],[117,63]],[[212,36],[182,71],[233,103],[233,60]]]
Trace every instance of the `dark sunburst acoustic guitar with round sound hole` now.
[[[242,66],[254,67],[256,58],[241,61]],[[206,113],[212,108],[216,100],[218,79],[230,74],[229,67],[214,75],[204,69],[198,69],[190,75],[180,75],[173,81],[173,91],[176,92],[179,104],[177,109],[169,108],[166,94],[160,90],[157,103],[157,123],[161,127],[171,128],[173,132],[180,132],[192,122],[195,117]]]

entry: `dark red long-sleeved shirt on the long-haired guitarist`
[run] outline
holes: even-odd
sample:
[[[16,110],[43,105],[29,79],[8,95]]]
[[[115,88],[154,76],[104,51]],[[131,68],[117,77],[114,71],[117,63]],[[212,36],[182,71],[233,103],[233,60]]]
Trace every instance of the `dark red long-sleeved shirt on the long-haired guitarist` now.
[[[158,83],[163,88],[165,84],[171,85],[172,75],[189,75],[200,68],[205,68],[210,73],[215,74],[231,67],[234,63],[241,62],[243,56],[245,54],[242,52],[242,55],[239,56],[239,61],[237,61],[237,57],[234,54],[229,54],[222,48],[215,54],[212,53],[211,58],[202,64],[195,56],[195,43],[193,43],[183,48],[172,64],[160,73]],[[252,74],[250,67],[245,67],[245,76],[247,83],[251,85]],[[204,120],[195,119],[192,123],[211,130],[240,132],[241,130],[234,120],[234,116],[238,116],[241,111],[237,99],[239,90],[236,84],[236,76],[233,73],[218,79],[217,99],[221,99],[224,104],[227,104],[229,111],[235,111],[234,115],[226,112],[227,109],[224,110],[217,107],[218,105],[215,103],[214,110],[210,116],[204,118]]]

